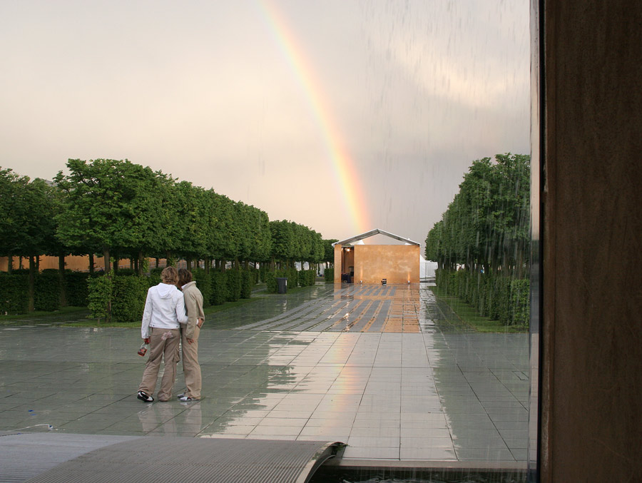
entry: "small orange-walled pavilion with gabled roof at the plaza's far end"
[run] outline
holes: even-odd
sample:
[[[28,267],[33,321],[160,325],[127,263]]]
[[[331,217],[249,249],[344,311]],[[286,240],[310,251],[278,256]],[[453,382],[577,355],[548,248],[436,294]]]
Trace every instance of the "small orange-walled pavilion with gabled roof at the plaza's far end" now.
[[[364,245],[362,240],[384,235],[403,245]],[[361,242],[361,244],[359,243]],[[375,228],[332,243],[335,247],[335,283],[419,283],[421,245]]]

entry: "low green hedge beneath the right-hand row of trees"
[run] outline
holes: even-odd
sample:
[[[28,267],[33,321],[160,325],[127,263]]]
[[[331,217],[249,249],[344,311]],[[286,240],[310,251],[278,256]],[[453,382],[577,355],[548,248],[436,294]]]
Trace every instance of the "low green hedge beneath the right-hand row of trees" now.
[[[504,325],[525,325],[530,317],[530,281],[469,270],[436,270],[440,290],[472,305],[480,315]]]

